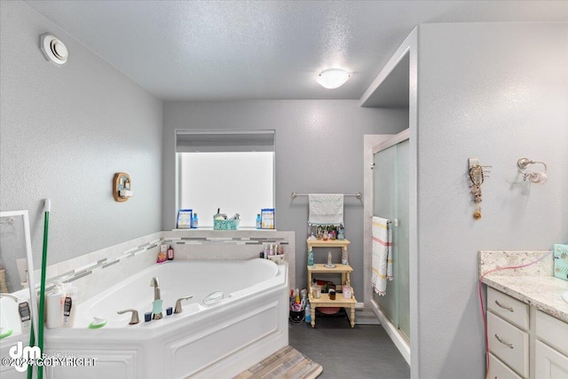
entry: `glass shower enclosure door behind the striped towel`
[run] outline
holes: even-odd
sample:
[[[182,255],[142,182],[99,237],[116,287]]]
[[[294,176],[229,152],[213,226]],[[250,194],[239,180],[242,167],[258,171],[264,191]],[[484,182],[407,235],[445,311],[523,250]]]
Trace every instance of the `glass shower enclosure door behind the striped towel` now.
[[[373,150],[373,214],[392,221],[392,273],[385,296],[373,294],[383,315],[410,343],[408,130]]]

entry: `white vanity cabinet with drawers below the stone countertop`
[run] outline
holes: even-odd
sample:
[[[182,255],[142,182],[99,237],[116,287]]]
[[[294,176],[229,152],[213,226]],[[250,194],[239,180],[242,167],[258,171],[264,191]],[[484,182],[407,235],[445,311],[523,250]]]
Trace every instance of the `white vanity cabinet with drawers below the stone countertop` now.
[[[487,288],[489,377],[568,379],[568,324]]]

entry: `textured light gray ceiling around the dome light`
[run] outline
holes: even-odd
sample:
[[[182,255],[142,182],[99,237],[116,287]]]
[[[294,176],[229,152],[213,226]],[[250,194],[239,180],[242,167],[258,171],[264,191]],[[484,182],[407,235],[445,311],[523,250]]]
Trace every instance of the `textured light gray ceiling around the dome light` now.
[[[564,0],[26,3],[156,97],[179,100],[359,99],[419,23],[568,21]],[[351,79],[323,89],[315,77],[328,67]]]

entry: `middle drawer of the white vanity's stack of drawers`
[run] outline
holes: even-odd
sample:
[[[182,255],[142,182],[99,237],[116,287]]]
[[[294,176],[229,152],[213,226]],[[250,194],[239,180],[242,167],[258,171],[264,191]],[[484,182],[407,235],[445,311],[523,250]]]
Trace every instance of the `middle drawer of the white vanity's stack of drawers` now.
[[[501,317],[487,312],[489,351],[515,370],[529,375],[529,335]]]

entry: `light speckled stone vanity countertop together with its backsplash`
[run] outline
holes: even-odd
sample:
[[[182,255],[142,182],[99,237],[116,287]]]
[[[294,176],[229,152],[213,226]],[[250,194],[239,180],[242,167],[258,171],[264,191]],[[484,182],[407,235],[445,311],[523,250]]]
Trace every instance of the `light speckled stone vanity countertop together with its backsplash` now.
[[[480,251],[479,272],[526,265],[548,253],[549,251]],[[482,282],[525,304],[531,304],[556,319],[568,322],[568,304],[562,299],[562,294],[568,290],[568,281],[555,278],[553,270],[553,257],[548,254],[534,265],[491,272],[485,275]]]

